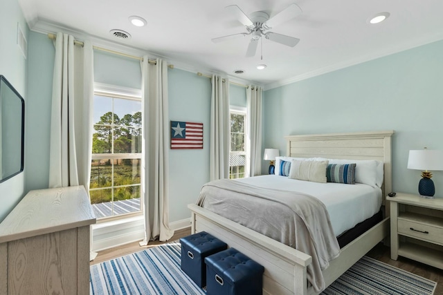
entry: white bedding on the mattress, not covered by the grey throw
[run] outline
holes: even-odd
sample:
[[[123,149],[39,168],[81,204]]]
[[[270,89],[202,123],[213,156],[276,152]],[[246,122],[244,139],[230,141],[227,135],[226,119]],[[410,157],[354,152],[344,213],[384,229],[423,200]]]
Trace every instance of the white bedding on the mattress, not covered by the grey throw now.
[[[368,184],[318,183],[279,175],[261,175],[237,181],[257,187],[307,193],[318,198],[326,206],[336,236],[370,218],[381,207],[381,189]]]

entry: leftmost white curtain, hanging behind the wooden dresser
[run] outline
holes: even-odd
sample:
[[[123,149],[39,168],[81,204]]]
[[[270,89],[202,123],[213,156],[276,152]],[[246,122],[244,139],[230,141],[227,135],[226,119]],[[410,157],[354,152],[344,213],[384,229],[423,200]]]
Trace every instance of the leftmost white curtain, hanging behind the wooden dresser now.
[[[49,187],[89,190],[92,151],[93,49],[58,33],[51,111]]]

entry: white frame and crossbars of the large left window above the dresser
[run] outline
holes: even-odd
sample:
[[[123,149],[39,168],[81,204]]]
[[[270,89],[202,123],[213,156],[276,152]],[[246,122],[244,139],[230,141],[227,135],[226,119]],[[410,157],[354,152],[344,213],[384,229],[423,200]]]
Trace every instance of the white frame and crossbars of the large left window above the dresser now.
[[[120,99],[131,99],[131,100],[136,100],[136,101],[141,102],[141,89],[136,89],[136,88],[127,88],[127,87],[123,87],[123,86],[115,86],[115,85],[110,85],[110,84],[94,83],[94,96],[96,96],[96,95],[97,96],[112,97],[112,98],[120,98]],[[112,113],[114,115],[114,104],[112,105]],[[143,115],[143,110],[142,110],[142,115]],[[114,120],[113,120],[113,122],[114,122]],[[93,122],[92,124],[93,124],[93,126],[97,125],[96,122]],[[143,130],[143,126],[142,126],[142,130]],[[112,142],[112,150],[114,151],[114,140]],[[140,159],[141,160],[142,158],[143,158],[143,152],[142,153],[92,153],[92,151],[91,151],[91,160],[118,160],[118,159]],[[141,167],[142,166],[143,166],[143,164],[141,164]],[[89,191],[99,191],[102,189],[111,189],[112,202],[113,202],[112,206],[114,206],[114,189],[116,189],[116,188],[140,186],[140,193],[143,192],[143,187],[142,187],[143,181],[142,180],[141,180],[140,184],[114,186],[114,164],[112,165],[111,171],[112,171],[111,173],[113,176],[111,178],[111,187],[106,187],[106,188],[100,187],[100,188],[95,188],[95,189],[89,189]],[[141,173],[141,175],[143,175],[143,173]],[[141,196],[139,211],[97,218],[97,223],[109,222],[111,220],[123,220],[125,218],[132,218],[134,216],[142,216],[143,215],[143,207],[144,207],[143,198]],[[113,213],[114,213],[114,209],[113,209]]]

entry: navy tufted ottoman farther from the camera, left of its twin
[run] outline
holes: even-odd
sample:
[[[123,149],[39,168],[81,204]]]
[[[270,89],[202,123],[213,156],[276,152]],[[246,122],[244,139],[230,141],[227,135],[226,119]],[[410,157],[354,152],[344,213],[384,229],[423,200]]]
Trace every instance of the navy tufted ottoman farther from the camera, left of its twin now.
[[[228,245],[206,231],[181,238],[180,242],[181,269],[199,287],[206,286],[205,257],[226,249]]]

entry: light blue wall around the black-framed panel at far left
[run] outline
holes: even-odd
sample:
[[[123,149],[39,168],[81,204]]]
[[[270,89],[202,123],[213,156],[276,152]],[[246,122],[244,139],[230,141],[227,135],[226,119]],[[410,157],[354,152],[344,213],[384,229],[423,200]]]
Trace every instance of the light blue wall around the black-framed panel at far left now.
[[[2,0],[0,9],[0,75],[4,75],[24,97],[26,112],[28,112],[29,109],[26,106],[28,101],[26,92],[28,64],[17,46],[17,23],[28,40],[28,25],[18,1]],[[24,166],[26,167],[26,158]],[[24,173],[19,173],[0,183],[0,222],[21,200],[24,191]]]

